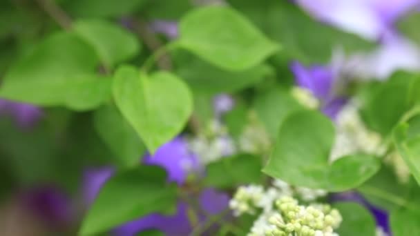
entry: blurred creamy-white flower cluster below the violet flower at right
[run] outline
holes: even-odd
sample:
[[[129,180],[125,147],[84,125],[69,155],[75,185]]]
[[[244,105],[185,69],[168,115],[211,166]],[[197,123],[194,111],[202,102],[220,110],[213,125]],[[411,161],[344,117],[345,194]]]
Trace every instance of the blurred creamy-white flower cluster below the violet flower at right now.
[[[368,130],[359,116],[355,101],[347,103],[336,118],[336,139],[330,161],[353,153],[382,155],[381,135]]]

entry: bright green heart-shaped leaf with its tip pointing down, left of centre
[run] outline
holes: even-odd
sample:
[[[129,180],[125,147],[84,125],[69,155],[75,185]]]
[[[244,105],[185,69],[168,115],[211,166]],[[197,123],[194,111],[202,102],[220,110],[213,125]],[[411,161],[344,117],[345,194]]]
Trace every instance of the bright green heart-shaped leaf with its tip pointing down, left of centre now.
[[[151,153],[178,135],[193,109],[189,88],[169,72],[140,75],[136,68],[122,66],[115,73],[113,94]]]

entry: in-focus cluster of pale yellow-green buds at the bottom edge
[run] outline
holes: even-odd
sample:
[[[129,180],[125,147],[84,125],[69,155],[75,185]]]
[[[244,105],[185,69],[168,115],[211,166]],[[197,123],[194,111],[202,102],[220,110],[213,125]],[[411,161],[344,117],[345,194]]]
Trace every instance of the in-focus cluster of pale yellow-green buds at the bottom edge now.
[[[334,236],[341,221],[338,210],[329,205],[302,206],[292,197],[282,197],[276,201],[275,210],[258,217],[248,235]]]

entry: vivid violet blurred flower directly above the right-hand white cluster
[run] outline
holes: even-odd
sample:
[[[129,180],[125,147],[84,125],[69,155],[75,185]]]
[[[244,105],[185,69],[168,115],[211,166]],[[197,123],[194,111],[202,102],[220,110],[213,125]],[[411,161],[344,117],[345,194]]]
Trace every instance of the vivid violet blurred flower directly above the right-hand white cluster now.
[[[321,102],[321,110],[325,115],[334,119],[343,108],[347,99],[336,95],[336,72],[327,66],[312,66],[305,68],[298,61],[290,66],[296,84],[312,92]]]

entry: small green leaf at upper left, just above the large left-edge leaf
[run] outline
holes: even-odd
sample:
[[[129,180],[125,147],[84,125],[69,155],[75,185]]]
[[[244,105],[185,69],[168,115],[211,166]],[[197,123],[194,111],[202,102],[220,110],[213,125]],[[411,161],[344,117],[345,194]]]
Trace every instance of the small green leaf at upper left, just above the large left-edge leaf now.
[[[140,50],[135,35],[109,21],[80,20],[73,24],[73,30],[95,48],[106,67],[131,59]]]

